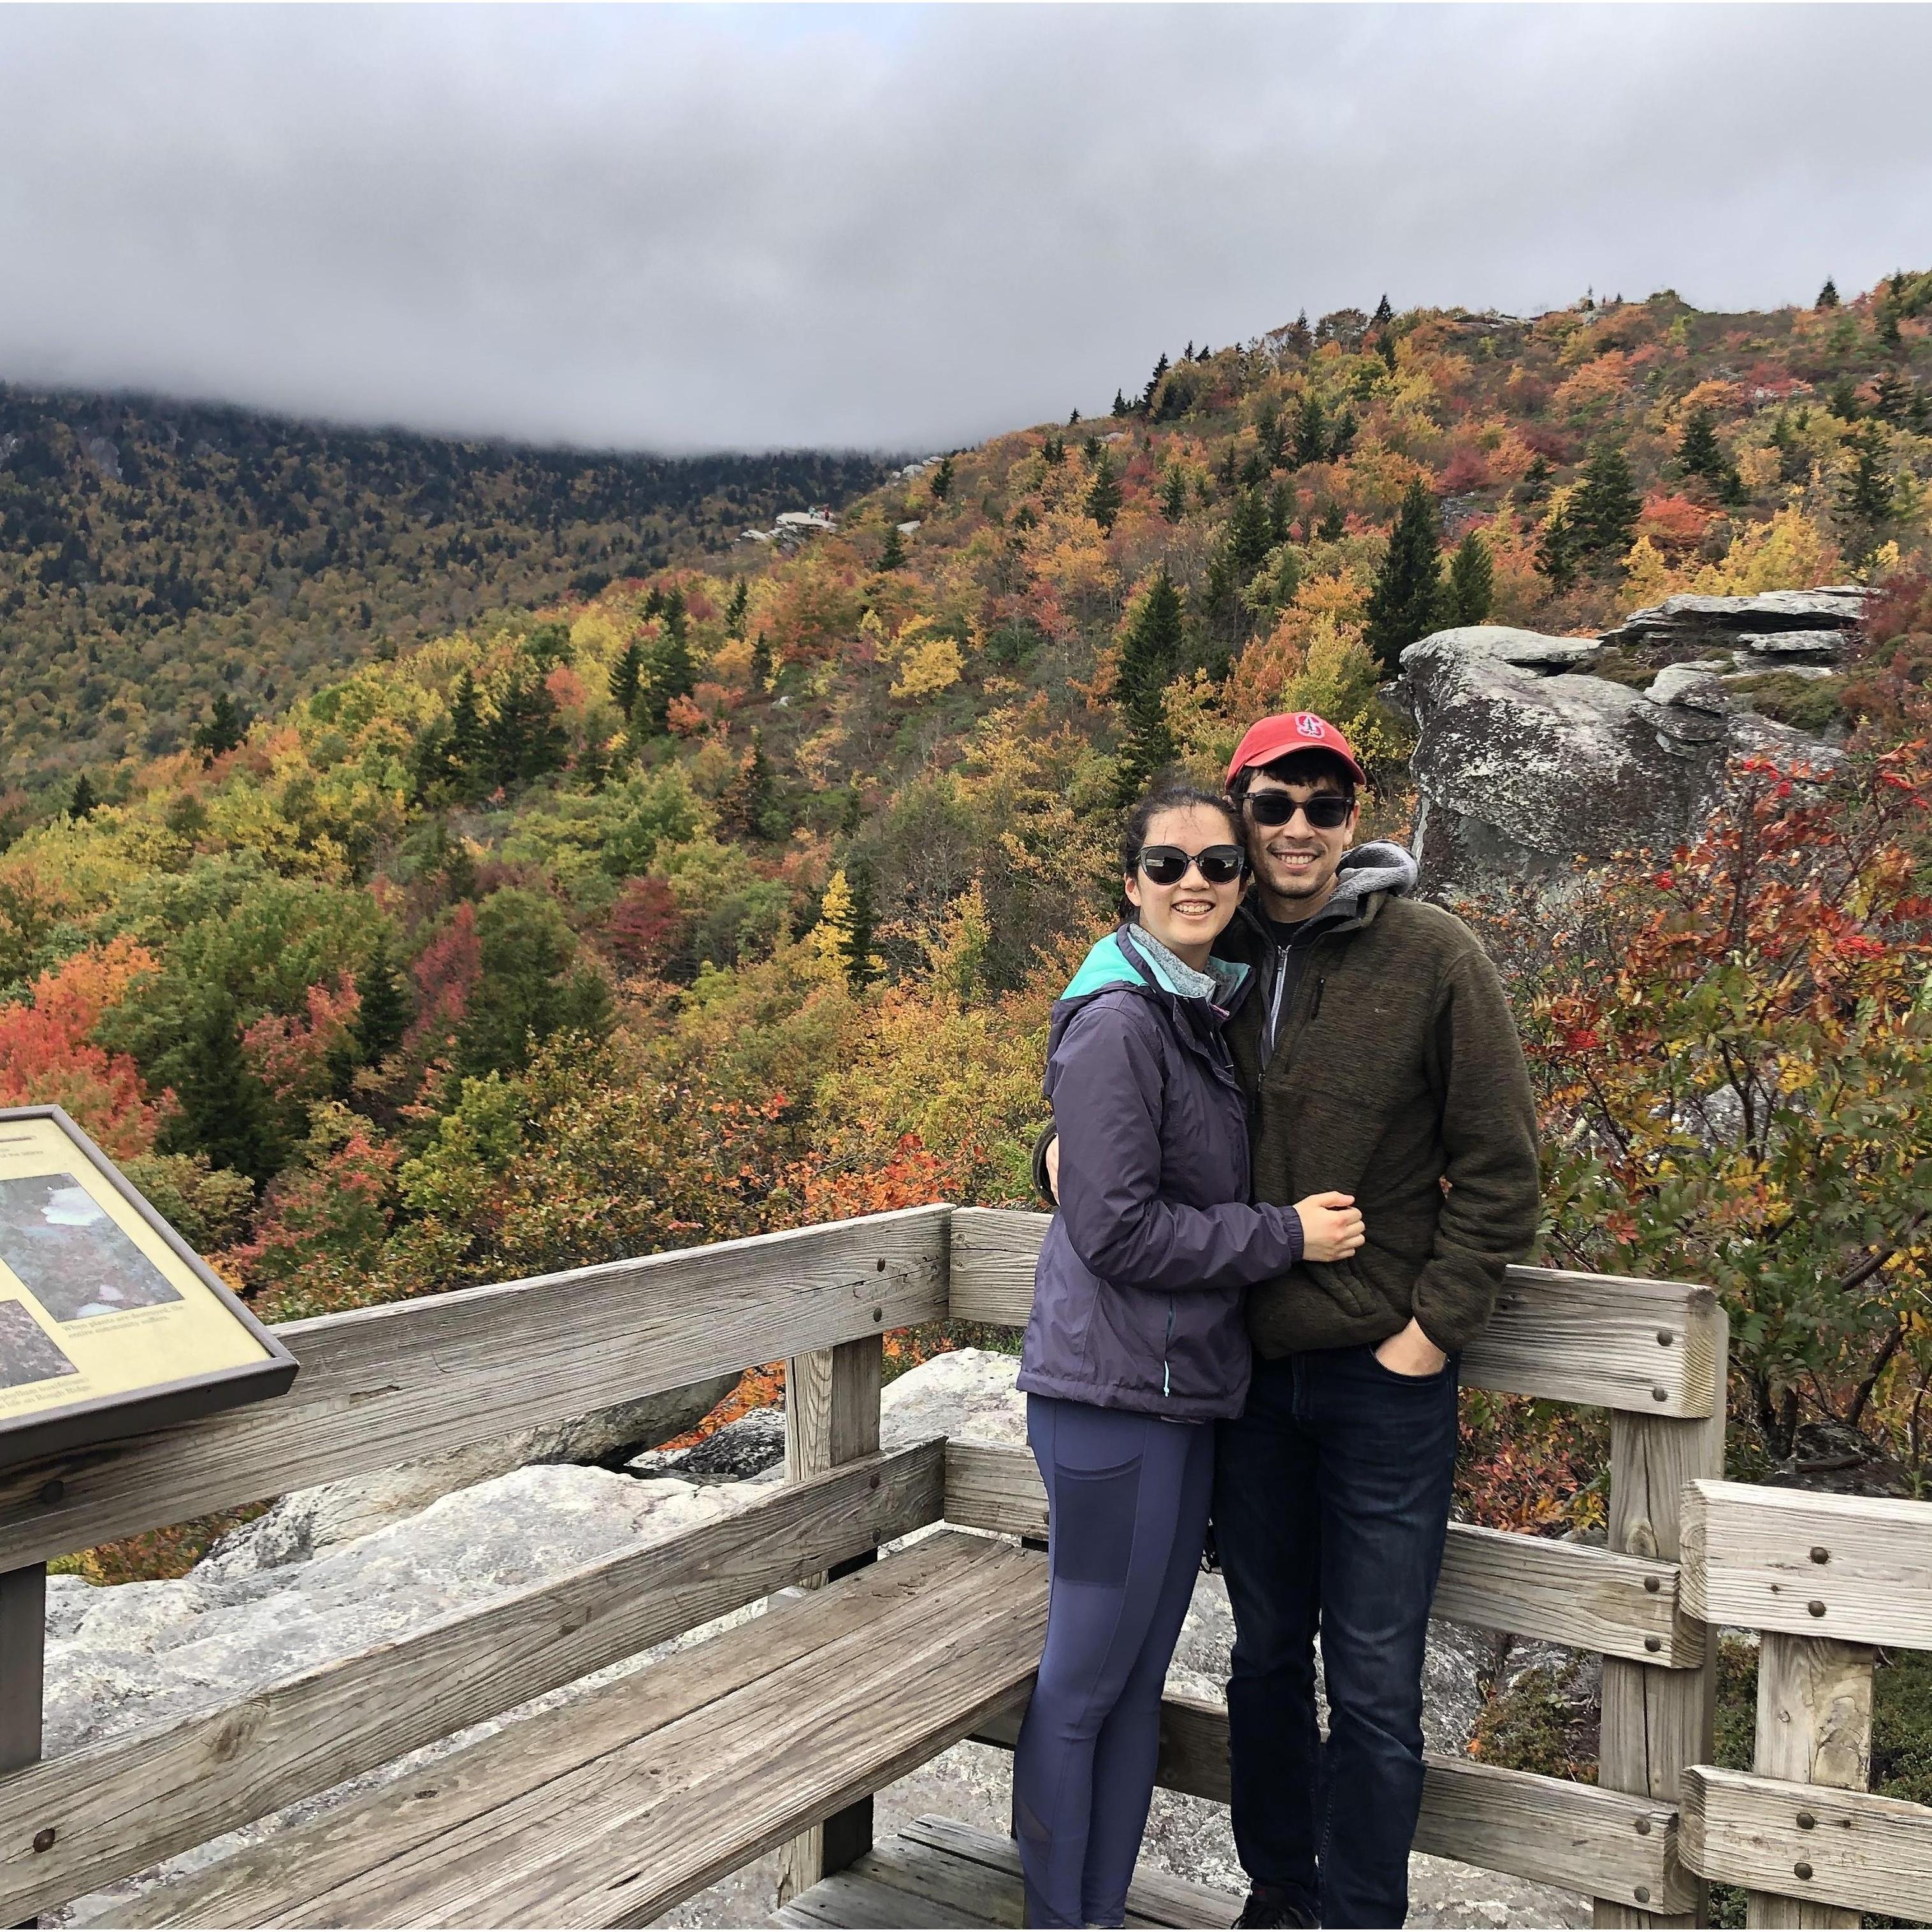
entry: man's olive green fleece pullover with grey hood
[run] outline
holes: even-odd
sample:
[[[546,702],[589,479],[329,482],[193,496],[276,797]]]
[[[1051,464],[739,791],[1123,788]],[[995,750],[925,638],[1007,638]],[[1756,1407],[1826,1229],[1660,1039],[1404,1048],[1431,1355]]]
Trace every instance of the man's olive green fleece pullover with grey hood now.
[[[1283,962],[1264,923],[1242,908],[1215,943],[1260,978],[1227,1034],[1252,1109],[1254,1200],[1335,1188],[1368,1229],[1350,1260],[1250,1291],[1265,1356],[1379,1343],[1410,1316],[1455,1352],[1536,1238],[1536,1109],[1503,983],[1459,918],[1403,896],[1412,879],[1399,848],[1347,854],[1275,1014]]]

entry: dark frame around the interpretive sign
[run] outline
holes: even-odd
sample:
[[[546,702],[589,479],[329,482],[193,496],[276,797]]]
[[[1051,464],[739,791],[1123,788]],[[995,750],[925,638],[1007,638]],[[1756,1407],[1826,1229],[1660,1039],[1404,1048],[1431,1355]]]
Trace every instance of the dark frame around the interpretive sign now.
[[[162,1240],[174,1258],[205,1287],[220,1308],[238,1321],[261,1347],[259,1362],[209,1370],[203,1376],[184,1376],[153,1387],[120,1395],[95,1395],[14,1420],[0,1418],[0,1470],[23,1463],[39,1463],[71,1449],[128,1435],[147,1435],[180,1422],[240,1408],[282,1395],[301,1366],[276,1339],[274,1331],[257,1320],[255,1312],[228,1287],[193,1248],[160,1217],[153,1204],[128,1177],[89,1140],[64,1107],[0,1107],[0,1126],[14,1121],[52,1121],[73,1142],[75,1153],[126,1202]]]

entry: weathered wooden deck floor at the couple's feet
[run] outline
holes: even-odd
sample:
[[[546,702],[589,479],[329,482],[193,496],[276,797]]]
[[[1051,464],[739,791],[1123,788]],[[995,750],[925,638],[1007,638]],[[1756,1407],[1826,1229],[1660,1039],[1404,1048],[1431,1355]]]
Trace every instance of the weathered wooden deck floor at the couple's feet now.
[[[1130,1926],[1231,1926],[1240,1899],[1142,1870],[1126,1895]],[[951,1818],[918,1818],[904,1832],[779,1913],[781,1926],[846,1932],[923,1932],[937,1926],[1018,1926],[1020,1851]]]

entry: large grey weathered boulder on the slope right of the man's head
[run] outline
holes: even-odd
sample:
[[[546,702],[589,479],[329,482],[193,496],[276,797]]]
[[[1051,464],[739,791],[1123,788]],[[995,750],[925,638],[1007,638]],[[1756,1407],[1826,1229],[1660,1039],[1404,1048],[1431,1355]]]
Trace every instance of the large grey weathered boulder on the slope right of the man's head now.
[[[1403,651],[1424,891],[1553,879],[1577,858],[1673,846],[1745,753],[1810,771],[1837,763],[1833,746],[1737,701],[1735,657],[1671,663],[1636,690],[1592,676],[1600,653],[1594,638],[1501,624],[1439,630]]]

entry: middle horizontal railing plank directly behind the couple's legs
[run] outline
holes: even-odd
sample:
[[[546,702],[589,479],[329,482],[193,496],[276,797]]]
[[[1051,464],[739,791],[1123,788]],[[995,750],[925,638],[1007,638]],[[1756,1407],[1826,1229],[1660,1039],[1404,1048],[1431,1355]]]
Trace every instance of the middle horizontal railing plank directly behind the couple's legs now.
[[[1026,1449],[947,1443],[947,1520],[1045,1536],[1047,1492]],[[1449,1524],[1435,1615],[1673,1669],[1704,1662],[1704,1627],[1677,1609],[1677,1565]]]

